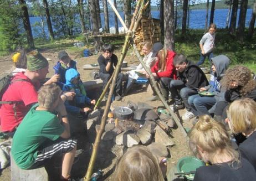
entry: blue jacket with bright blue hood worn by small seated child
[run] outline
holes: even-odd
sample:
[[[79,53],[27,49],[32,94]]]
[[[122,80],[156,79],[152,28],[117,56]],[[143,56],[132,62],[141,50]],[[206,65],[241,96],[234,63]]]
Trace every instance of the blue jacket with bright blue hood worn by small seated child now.
[[[79,113],[80,108],[76,105],[91,104],[91,99],[86,96],[83,82],[79,79],[78,84],[73,84],[72,81],[80,74],[75,69],[66,70],[66,84],[63,86],[63,91],[74,91],[75,97],[73,101],[65,101],[66,110],[69,112]],[[71,105],[71,104],[72,105]]]

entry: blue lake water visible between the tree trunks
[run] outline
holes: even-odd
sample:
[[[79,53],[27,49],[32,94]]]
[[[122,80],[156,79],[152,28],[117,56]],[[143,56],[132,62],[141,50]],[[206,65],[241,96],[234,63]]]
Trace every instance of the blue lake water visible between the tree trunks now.
[[[217,28],[225,28],[226,27],[226,19],[227,19],[228,9],[216,9],[214,12],[214,23],[217,24]],[[238,16],[239,16],[239,9],[238,9]],[[121,17],[124,17],[124,13],[120,12]],[[152,11],[151,15],[153,18],[159,19],[160,12],[159,11]],[[247,15],[246,15],[246,22],[245,26],[249,27],[250,17],[252,15],[252,9],[247,9]],[[76,15],[76,21],[79,22],[79,16]],[[210,11],[208,14],[208,22],[210,17]],[[206,10],[204,9],[197,9],[197,10],[191,10],[190,11],[190,25],[189,28],[191,29],[203,29],[204,28],[204,21],[206,18]],[[40,22],[39,17],[30,17],[30,23],[33,25],[35,22]],[[124,19],[124,18],[123,18]],[[181,19],[180,19],[181,20]],[[178,20],[178,24],[180,23],[180,20]],[[119,22],[119,20],[118,20]],[[238,22],[238,18],[237,18]],[[46,24],[46,23],[45,23]],[[104,26],[104,14],[101,13],[101,24]],[[47,25],[47,24],[46,24]],[[121,23],[119,22],[119,27],[121,27]],[[114,19],[114,12],[109,13],[109,26],[115,27],[115,19]],[[45,32],[48,33],[47,27],[45,27]],[[32,29],[32,33],[34,37],[37,37],[37,34]]]

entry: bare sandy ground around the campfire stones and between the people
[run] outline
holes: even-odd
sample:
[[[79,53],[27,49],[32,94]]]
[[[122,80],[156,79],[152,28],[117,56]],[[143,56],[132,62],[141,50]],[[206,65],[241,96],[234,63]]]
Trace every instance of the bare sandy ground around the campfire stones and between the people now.
[[[53,71],[53,65],[57,63],[58,61],[58,51],[56,50],[43,50],[40,51],[45,58],[49,58],[49,74],[48,76],[51,76],[54,74]],[[81,57],[81,52],[69,52],[67,51],[70,55],[71,59],[74,59],[77,61],[77,68],[79,73],[81,74],[81,80],[87,81],[87,80],[92,80],[93,78],[90,76],[90,73],[93,70],[83,70],[83,65],[84,64],[94,64],[97,63],[98,55],[92,55],[89,56],[88,58]],[[120,57],[121,51],[116,51],[115,54],[117,57]],[[11,56],[6,56],[4,58],[0,58],[0,75],[3,73],[8,72],[10,69],[12,69],[12,61],[11,61]],[[125,58],[125,61],[131,64],[139,64],[137,61],[136,56],[132,53],[130,50]],[[120,105],[127,105],[127,101],[133,101],[133,102],[147,102],[148,104],[158,107],[162,106],[161,101],[153,101],[149,102],[147,99],[152,96],[151,92],[147,92],[145,87],[141,87],[140,90],[131,90],[130,94],[125,96],[121,101],[114,101],[112,103],[113,106],[120,106]],[[102,107],[104,108],[104,107]],[[184,110],[180,110],[179,113],[182,114]],[[188,122],[182,122],[184,127],[192,127],[191,121]],[[192,153],[190,152],[190,149],[187,146],[186,139],[182,136],[181,131],[178,128],[175,128],[172,130],[172,135],[173,135],[173,142],[175,142],[175,146],[172,146],[169,148],[170,150],[170,158],[167,160],[167,165],[168,165],[168,170],[175,166],[177,163],[178,159],[180,159],[183,156],[188,156],[191,155]],[[89,132],[90,133],[90,132]],[[93,142],[94,142],[94,135],[88,135],[86,137],[83,137],[82,141],[80,142],[80,149],[83,150],[83,152],[79,156],[79,161],[78,163],[75,164],[72,170],[72,175],[74,177],[83,177],[86,173],[89,159],[90,159],[90,154],[93,148]],[[111,180],[111,173],[114,170],[115,163],[117,161],[117,158],[119,158],[123,152],[122,150],[123,147],[117,147],[115,144],[110,141],[110,142],[104,142],[102,141],[100,144],[100,149],[98,152],[98,157],[96,159],[94,171],[98,169],[103,169],[104,170],[104,177],[99,179],[99,180]],[[124,148],[125,149],[125,148]],[[10,167],[4,169],[2,171],[0,180],[11,180],[11,173],[10,173]]]

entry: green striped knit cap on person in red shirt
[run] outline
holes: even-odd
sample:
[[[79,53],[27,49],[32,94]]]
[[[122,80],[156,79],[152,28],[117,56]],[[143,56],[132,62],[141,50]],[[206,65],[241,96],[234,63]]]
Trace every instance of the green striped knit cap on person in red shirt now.
[[[43,69],[49,65],[47,59],[41,55],[38,50],[30,51],[27,54],[27,69],[29,71],[35,71]]]

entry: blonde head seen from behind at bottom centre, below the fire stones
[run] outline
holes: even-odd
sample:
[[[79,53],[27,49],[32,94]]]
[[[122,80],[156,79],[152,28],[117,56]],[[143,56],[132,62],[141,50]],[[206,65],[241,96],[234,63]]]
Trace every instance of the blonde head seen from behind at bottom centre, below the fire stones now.
[[[129,149],[117,163],[114,179],[116,181],[163,181],[157,158],[143,146]]]

